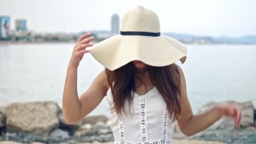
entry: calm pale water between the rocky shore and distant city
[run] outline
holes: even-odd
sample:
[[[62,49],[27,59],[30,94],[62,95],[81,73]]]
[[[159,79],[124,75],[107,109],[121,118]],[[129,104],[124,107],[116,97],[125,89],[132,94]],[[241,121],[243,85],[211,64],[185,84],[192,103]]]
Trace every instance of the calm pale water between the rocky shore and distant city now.
[[[57,101],[74,44],[0,45],[0,104]],[[193,112],[208,101],[253,101],[256,106],[256,45],[188,45],[181,65]],[[78,94],[104,69],[90,54],[78,68]],[[107,100],[89,115],[110,116]]]

